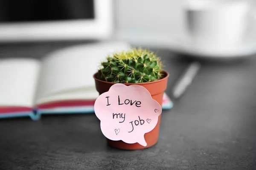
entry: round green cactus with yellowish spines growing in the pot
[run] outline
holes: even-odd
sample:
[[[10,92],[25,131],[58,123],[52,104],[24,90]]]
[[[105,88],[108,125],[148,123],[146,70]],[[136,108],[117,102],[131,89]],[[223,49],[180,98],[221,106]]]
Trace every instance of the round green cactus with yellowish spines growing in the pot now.
[[[143,83],[161,79],[162,62],[148,49],[133,48],[113,53],[101,63],[98,78],[115,83]]]

